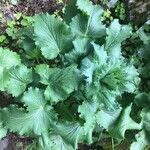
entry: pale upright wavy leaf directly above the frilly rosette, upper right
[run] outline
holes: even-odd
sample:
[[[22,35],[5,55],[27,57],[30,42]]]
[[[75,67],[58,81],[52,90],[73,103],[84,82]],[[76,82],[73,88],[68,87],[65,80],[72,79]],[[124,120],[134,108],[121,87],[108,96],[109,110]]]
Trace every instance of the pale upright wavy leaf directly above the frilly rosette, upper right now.
[[[119,20],[112,21],[107,28],[105,50],[115,57],[121,55],[121,43],[131,36],[131,28],[128,25],[120,25]]]

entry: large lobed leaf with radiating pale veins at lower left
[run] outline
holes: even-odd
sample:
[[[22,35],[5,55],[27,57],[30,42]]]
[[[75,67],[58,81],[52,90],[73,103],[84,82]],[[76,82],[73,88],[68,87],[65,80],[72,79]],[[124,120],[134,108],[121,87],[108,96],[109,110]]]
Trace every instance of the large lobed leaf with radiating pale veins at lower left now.
[[[22,102],[27,106],[27,110],[10,106],[2,110],[2,120],[4,125],[12,132],[19,134],[33,133],[42,135],[55,124],[56,115],[52,107],[46,105],[44,93],[38,88],[29,88],[24,93]]]

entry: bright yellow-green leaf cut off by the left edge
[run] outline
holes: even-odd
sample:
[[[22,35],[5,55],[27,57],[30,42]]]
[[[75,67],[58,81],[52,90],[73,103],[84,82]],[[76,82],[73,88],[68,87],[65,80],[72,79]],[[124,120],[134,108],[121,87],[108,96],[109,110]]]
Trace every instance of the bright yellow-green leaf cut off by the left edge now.
[[[20,57],[16,52],[0,48],[0,90],[4,91],[9,81],[9,69],[20,65]]]

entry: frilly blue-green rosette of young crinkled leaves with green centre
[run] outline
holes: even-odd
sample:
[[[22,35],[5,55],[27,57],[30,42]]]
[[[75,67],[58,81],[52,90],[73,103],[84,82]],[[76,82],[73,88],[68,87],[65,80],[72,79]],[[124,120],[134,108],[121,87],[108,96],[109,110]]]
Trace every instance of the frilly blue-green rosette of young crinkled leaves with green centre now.
[[[96,99],[107,109],[116,109],[116,96],[135,91],[139,83],[137,70],[123,58],[109,57],[103,46],[92,45],[92,54],[83,59],[81,64],[86,96]]]

